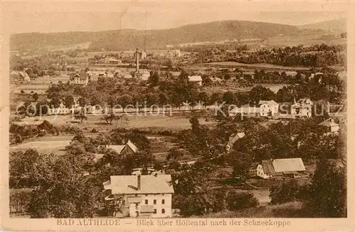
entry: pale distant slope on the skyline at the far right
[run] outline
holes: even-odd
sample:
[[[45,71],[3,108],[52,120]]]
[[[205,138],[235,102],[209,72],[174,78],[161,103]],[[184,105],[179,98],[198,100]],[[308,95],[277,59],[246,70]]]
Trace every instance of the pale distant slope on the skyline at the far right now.
[[[298,28],[312,29],[312,30],[323,30],[323,31],[346,32],[347,31],[347,19],[339,18],[339,19],[330,20],[330,21],[310,23],[310,24],[298,26]]]

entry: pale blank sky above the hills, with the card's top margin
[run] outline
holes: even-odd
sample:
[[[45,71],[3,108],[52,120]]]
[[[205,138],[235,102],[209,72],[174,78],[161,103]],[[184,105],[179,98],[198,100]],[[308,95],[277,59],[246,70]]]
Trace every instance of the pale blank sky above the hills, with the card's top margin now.
[[[347,18],[346,1],[3,1],[10,33],[166,29],[222,20],[303,25]],[[147,23],[146,23],[147,11]]]

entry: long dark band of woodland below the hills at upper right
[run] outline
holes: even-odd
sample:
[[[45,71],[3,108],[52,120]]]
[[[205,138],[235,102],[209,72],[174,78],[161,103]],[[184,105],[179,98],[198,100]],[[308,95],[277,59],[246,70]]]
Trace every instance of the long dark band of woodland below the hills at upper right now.
[[[314,45],[303,48],[294,46],[286,48],[263,49],[253,52],[244,50],[237,52],[221,51],[213,53],[204,51],[199,53],[196,62],[234,61],[245,64],[268,63],[283,66],[325,67],[332,65],[346,65],[346,48],[342,45]]]

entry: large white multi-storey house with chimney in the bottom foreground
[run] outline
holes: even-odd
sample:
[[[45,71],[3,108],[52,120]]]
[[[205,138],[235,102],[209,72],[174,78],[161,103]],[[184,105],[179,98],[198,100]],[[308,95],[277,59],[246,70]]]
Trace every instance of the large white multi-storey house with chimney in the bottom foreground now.
[[[171,175],[120,175],[110,176],[103,183],[108,214],[114,217],[172,216]],[[119,206],[120,210],[116,210]]]

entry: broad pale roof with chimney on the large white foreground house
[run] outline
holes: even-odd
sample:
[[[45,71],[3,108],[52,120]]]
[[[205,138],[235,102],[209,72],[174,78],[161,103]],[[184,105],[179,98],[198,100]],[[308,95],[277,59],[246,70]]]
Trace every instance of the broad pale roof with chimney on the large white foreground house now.
[[[140,180],[138,189],[137,180]],[[171,175],[120,175],[110,176],[110,182],[104,182],[104,189],[111,189],[111,194],[163,194],[174,193]]]

